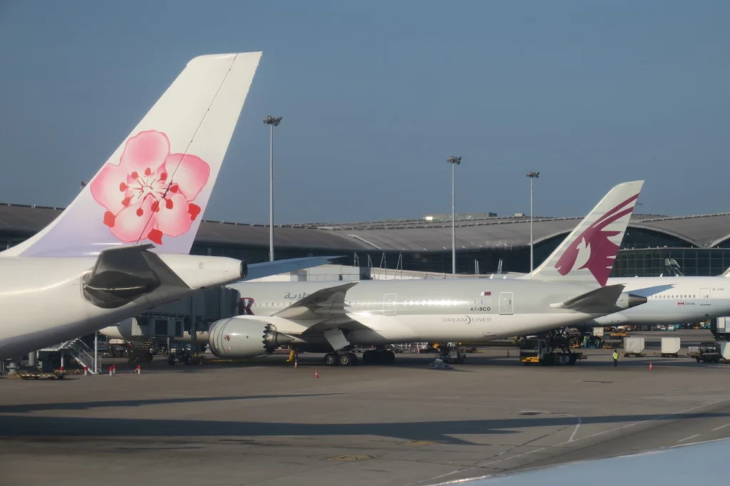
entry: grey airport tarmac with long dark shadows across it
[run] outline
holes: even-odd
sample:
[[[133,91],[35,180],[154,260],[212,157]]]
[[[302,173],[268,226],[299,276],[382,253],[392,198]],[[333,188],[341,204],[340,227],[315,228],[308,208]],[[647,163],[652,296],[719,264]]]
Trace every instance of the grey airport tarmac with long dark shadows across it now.
[[[712,339],[631,335],[647,334]],[[417,486],[730,437],[730,365],[649,346],[618,368],[611,350],[555,367],[480,351],[450,371],[434,355],[297,369],[273,355],[2,379],[0,485]]]

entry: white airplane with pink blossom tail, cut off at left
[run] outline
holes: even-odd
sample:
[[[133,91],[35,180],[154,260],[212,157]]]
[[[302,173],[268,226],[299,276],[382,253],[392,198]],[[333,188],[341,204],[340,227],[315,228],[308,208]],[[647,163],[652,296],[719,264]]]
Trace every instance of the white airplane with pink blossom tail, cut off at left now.
[[[72,204],[0,253],[0,359],[197,289],[328,263],[188,254],[260,58],[193,58]]]

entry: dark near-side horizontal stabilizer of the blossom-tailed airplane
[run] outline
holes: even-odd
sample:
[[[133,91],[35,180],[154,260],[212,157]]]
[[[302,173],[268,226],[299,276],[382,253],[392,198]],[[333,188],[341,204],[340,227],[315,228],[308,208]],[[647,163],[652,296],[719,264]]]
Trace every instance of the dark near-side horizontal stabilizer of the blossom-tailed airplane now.
[[[188,289],[151,244],[103,250],[84,277],[85,298],[95,306],[115,309],[160,288]]]

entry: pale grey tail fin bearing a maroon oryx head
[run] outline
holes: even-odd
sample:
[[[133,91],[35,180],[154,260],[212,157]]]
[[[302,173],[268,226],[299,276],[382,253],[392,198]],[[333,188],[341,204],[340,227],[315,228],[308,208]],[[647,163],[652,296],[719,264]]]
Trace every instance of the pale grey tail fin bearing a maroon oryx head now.
[[[606,285],[643,185],[612,188],[531,277]]]

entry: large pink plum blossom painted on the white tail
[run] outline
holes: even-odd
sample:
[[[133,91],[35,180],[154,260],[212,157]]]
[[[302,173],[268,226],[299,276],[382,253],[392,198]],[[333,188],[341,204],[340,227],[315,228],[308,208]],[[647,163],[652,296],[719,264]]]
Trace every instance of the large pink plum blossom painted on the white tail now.
[[[107,209],[104,224],[121,242],[180,236],[201,208],[193,204],[210,176],[195,155],[170,153],[166,134],[142,131],[127,140],[119,164],[107,163],[91,181],[91,195]],[[174,179],[174,181],[173,181]]]

